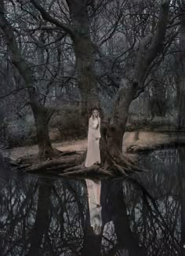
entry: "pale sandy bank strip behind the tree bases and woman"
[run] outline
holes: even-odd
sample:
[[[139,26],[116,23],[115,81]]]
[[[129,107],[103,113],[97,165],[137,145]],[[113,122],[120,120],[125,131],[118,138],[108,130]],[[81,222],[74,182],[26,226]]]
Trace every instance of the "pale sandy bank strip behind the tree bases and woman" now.
[[[158,148],[173,147],[177,144],[185,144],[184,132],[126,132],[123,137],[123,152],[130,155]],[[53,147],[60,151],[85,152],[87,139],[53,143]],[[33,145],[9,149],[2,148],[1,152],[5,158],[16,161],[22,157],[34,157],[34,155],[37,155],[38,146]]]

